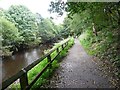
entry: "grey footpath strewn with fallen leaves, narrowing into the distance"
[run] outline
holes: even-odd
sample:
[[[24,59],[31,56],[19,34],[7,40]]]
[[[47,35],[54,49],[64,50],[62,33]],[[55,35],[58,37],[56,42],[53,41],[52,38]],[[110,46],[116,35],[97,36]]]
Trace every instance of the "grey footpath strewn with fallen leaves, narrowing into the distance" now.
[[[107,70],[106,70],[107,71]],[[100,70],[78,40],[60,63],[48,85],[44,88],[113,88],[114,80]]]

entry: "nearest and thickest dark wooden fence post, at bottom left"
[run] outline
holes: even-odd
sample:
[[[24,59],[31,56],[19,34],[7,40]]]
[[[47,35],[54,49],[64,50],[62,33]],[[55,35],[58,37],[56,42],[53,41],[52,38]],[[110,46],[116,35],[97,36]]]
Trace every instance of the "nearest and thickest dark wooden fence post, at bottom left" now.
[[[28,86],[28,77],[27,72],[23,69],[24,74],[20,77],[20,86],[21,90],[25,90],[26,86]]]

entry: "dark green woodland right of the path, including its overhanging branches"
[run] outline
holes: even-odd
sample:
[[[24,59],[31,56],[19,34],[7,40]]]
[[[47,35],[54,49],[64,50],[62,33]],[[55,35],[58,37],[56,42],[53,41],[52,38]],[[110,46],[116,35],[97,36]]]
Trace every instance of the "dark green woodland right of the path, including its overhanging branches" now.
[[[120,68],[120,2],[51,2],[49,11],[68,12],[64,28],[89,54]],[[116,73],[120,77],[120,73]]]

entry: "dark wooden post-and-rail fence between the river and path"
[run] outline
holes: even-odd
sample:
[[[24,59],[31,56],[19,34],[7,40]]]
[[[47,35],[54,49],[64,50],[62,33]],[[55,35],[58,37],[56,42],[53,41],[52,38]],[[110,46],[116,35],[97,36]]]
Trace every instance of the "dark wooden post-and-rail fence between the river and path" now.
[[[28,65],[27,67],[23,68],[22,70],[20,70],[17,74],[15,74],[14,76],[12,76],[11,78],[5,80],[2,82],[2,90],[6,89],[8,86],[10,86],[12,83],[14,83],[17,79],[20,79],[20,87],[21,90],[29,90],[33,84],[38,80],[38,78],[43,74],[43,72],[50,66],[50,64],[55,60],[55,58],[60,54],[60,52],[68,45],[69,39],[67,39],[64,43],[62,43],[61,45],[59,45],[58,47],[52,49],[49,53],[45,54],[43,57],[41,57],[40,59],[36,60],[35,62],[33,62],[32,64]],[[59,50],[60,47],[62,48],[62,50]],[[51,59],[51,54],[56,51],[57,55]],[[34,66],[36,66],[38,63],[40,63],[41,61],[43,61],[45,58],[48,59],[48,63],[45,65],[45,67],[40,71],[40,73],[35,77],[35,79],[29,84],[28,83],[28,76],[27,76],[27,72],[29,70],[31,70],[32,68],[34,68]]]

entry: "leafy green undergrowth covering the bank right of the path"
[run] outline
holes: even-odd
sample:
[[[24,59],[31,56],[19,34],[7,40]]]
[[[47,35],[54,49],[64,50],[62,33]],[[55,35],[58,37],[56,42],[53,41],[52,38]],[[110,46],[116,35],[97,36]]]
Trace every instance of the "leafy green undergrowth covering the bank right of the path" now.
[[[113,66],[120,68],[117,30],[104,29],[98,32],[98,36],[91,30],[86,30],[79,36],[79,40],[88,54],[108,60]],[[115,74],[120,78],[119,70]]]

